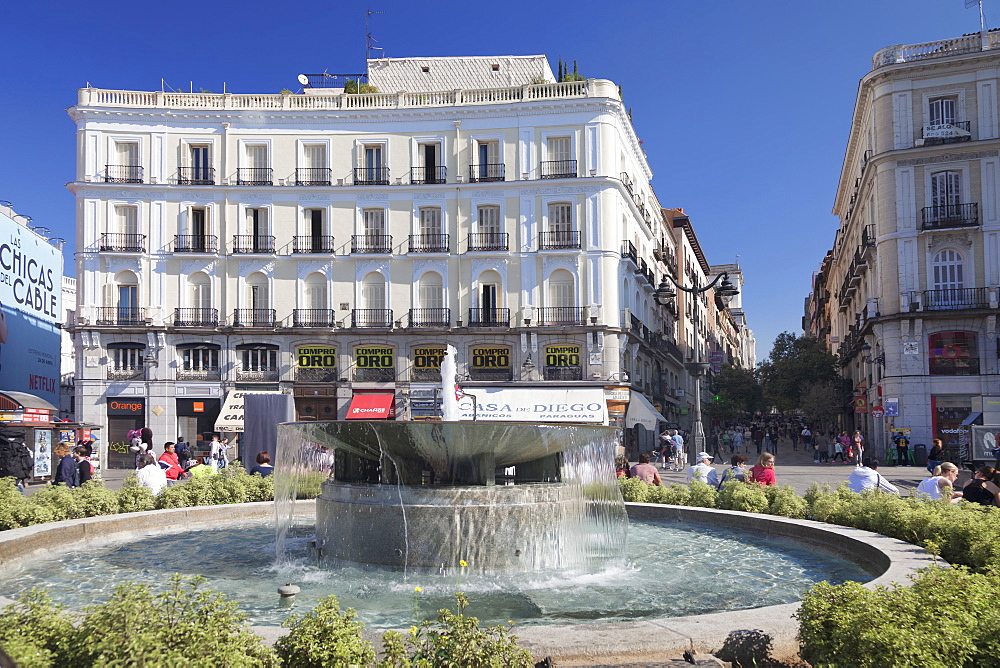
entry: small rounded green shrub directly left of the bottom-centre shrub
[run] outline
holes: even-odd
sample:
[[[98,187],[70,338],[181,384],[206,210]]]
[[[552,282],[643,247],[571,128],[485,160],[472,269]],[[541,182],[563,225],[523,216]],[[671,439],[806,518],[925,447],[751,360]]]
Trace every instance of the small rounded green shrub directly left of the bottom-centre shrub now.
[[[324,598],[306,615],[290,616],[282,626],[292,629],[274,644],[285,666],[364,666],[375,661],[375,648],[361,637],[364,625],[353,608],[340,611],[336,596]]]

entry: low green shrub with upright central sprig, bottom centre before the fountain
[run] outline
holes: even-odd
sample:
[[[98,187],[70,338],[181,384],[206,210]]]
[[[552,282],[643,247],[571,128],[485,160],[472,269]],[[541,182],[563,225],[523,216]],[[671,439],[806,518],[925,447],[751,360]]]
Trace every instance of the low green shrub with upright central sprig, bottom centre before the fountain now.
[[[455,594],[457,611],[438,613],[434,622],[410,627],[408,635],[389,631],[383,636],[383,665],[388,666],[473,666],[507,668],[533,666],[531,654],[517,645],[517,636],[508,626],[479,627],[479,620],[467,617],[469,599]]]

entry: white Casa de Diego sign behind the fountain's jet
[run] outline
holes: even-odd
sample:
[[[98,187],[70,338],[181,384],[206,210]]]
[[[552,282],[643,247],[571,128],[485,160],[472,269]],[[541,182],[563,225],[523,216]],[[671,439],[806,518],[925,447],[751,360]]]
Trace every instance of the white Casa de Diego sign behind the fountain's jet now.
[[[604,390],[600,387],[504,389],[462,388],[458,402],[460,420],[493,422],[585,422],[605,424],[608,419]]]

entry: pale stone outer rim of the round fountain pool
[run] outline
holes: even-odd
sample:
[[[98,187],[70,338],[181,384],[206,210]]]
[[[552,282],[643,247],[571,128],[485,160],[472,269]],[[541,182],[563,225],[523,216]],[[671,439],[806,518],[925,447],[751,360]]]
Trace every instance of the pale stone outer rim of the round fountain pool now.
[[[296,501],[295,514],[312,516],[315,505],[314,500]],[[940,560],[935,562],[930,553],[916,545],[851,527],[712,508],[644,503],[626,503],[625,506],[630,519],[684,521],[738,528],[769,537],[791,538],[810,548],[832,552],[875,571],[873,574],[877,577],[864,585],[868,589],[907,586],[909,577],[917,570],[943,563]],[[39,555],[54,556],[78,550],[81,545],[120,540],[130,534],[140,538],[150,531],[191,529],[208,524],[220,526],[233,520],[274,516],[274,502],[263,501],[36,524],[0,532],[0,568],[9,573],[26,559]],[[655,586],[655,583],[647,584]],[[10,599],[0,596],[0,607],[10,602]],[[558,658],[562,665],[634,662],[662,659],[667,655],[679,657],[688,649],[715,653],[723,648],[733,632],[739,631],[766,635],[771,641],[771,656],[787,659],[795,657],[798,652],[798,623],[793,617],[798,607],[799,603],[786,603],[690,617],[523,626],[518,627],[515,633],[520,644],[536,658]],[[288,632],[275,626],[256,626],[253,630],[268,642],[274,642]],[[366,631],[370,638],[377,638],[381,633],[382,630]]]

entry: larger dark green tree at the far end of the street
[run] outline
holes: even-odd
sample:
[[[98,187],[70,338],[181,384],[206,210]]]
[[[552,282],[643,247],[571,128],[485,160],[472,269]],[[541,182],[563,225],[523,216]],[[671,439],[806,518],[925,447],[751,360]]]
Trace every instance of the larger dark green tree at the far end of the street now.
[[[758,373],[768,405],[783,413],[809,407],[820,419],[829,419],[849,396],[839,368],[839,358],[819,339],[782,332]],[[828,413],[820,410],[823,405],[828,405]]]

